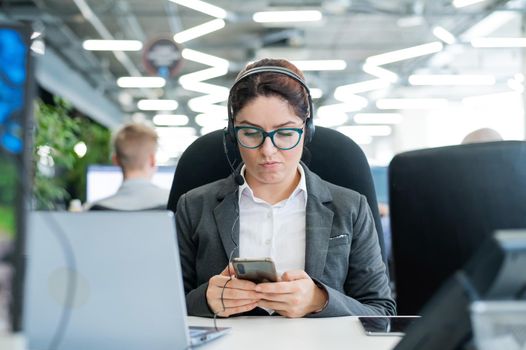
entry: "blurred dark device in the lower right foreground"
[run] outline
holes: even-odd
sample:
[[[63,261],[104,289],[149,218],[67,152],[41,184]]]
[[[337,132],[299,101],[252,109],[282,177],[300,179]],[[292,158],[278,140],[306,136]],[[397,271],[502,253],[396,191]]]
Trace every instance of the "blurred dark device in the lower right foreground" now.
[[[499,231],[438,290],[395,350],[457,350],[471,345],[476,300],[526,299],[526,230]],[[415,276],[415,283],[419,278]]]

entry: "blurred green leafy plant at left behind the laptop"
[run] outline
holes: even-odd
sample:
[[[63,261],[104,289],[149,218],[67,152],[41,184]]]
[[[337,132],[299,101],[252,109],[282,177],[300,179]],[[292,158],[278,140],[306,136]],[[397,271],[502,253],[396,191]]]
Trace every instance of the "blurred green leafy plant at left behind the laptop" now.
[[[64,207],[72,193],[83,199],[87,165],[109,161],[110,132],[85,117],[75,116],[73,107],[60,98],[55,98],[54,104],[38,101],[35,120],[36,209]],[[80,141],[88,147],[84,158],[74,151]]]

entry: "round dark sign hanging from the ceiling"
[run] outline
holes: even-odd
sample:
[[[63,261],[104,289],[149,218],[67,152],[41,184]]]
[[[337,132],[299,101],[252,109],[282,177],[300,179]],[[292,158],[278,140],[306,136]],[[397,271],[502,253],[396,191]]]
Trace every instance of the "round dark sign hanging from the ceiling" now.
[[[157,39],[143,51],[144,67],[151,75],[163,78],[177,74],[183,62],[181,49],[171,39]]]

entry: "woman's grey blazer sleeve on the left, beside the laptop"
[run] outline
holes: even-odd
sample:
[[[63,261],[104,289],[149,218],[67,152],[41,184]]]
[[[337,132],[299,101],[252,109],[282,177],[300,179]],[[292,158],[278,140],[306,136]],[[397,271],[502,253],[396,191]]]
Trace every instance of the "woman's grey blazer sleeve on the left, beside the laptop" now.
[[[212,317],[214,313],[208,307],[206,290],[208,282],[197,285],[196,246],[193,242],[193,228],[187,207],[186,194],[177,203],[176,212],[177,242],[181,257],[184,292],[186,295],[187,313],[192,316]]]

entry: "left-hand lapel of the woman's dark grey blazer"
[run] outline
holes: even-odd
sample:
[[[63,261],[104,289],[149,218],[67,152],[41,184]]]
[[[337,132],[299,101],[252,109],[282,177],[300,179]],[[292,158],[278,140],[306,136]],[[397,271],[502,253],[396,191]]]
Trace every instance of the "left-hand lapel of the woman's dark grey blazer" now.
[[[239,256],[239,202],[236,187],[230,183],[218,194],[220,203],[214,208],[216,227],[225,249],[226,258]]]

